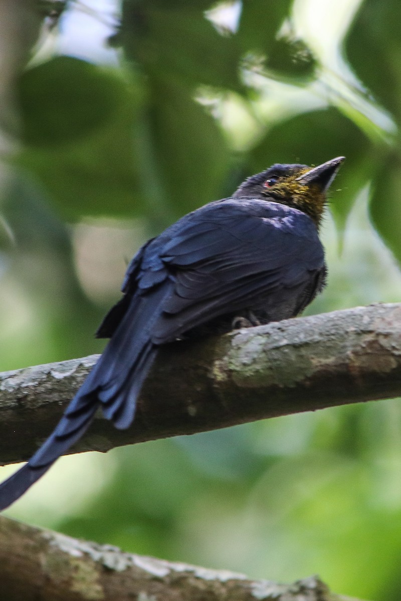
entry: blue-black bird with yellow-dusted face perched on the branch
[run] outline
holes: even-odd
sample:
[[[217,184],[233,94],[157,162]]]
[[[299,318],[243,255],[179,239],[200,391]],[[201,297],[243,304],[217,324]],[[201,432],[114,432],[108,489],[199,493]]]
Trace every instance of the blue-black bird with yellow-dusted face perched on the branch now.
[[[49,438],[0,484],[0,510],[84,435],[99,407],[118,429],[130,426],[162,345],[289,319],[307,307],[326,282],[319,229],[343,160],[272,165],[139,249],[121,300],[96,333],[110,338],[103,354]]]

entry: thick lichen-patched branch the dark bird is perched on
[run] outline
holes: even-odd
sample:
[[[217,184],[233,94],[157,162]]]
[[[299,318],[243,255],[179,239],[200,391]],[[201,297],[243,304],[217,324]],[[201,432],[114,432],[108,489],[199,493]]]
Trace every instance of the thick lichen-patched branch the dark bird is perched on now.
[[[51,432],[96,356],[0,374],[0,460],[25,460]],[[401,395],[401,304],[285,320],[163,347],[133,426],[99,413],[72,452],[193,434]]]

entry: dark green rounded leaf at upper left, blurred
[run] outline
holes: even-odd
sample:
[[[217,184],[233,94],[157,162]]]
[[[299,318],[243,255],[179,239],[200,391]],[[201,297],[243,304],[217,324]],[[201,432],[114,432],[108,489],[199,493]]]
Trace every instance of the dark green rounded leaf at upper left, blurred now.
[[[85,138],[118,110],[127,85],[115,70],[57,56],[22,74],[23,141],[46,147]]]

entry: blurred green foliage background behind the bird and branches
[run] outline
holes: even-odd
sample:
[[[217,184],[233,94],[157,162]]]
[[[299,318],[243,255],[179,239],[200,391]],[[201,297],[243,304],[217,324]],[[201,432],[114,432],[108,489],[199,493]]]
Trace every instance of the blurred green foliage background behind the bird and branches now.
[[[1,370],[101,352],[136,249],[274,162],[347,157],[308,313],[400,301],[399,0],[28,4],[0,11]],[[401,405],[65,457],[6,514],[399,601]]]

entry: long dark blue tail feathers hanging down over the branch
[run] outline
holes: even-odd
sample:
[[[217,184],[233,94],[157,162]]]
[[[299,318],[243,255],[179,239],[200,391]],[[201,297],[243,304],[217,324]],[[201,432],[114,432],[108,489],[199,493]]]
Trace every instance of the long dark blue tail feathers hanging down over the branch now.
[[[144,297],[134,297],[120,325],[54,432],[22,468],[0,484],[0,510],[16,501],[81,438],[97,409],[119,429],[130,426],[142,383],[155,358],[150,340],[158,308],[167,293],[163,285]]]

